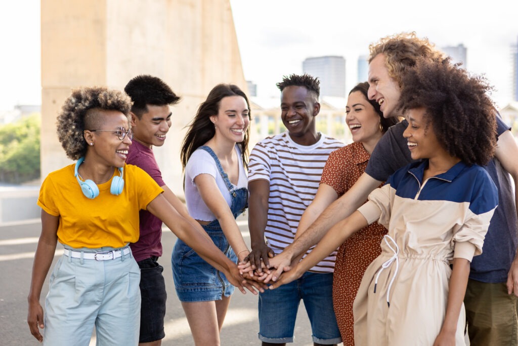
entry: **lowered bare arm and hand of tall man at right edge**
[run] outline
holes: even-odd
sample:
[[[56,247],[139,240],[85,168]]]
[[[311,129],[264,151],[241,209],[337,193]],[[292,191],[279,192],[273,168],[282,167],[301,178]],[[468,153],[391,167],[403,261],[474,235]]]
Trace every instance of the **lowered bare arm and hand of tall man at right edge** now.
[[[505,131],[498,137],[495,157],[513,178],[514,186],[518,187],[518,145],[511,131]],[[514,189],[514,199],[518,213],[518,188]],[[518,223],[518,220],[514,222]],[[507,293],[518,296],[518,250],[507,275]]]

